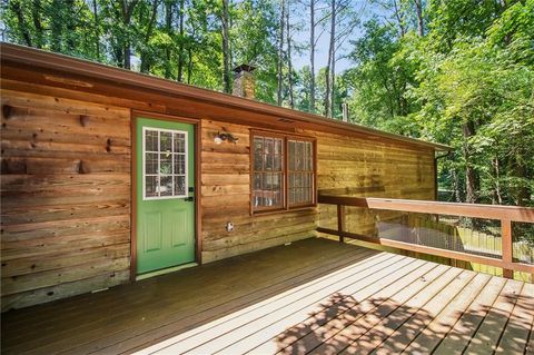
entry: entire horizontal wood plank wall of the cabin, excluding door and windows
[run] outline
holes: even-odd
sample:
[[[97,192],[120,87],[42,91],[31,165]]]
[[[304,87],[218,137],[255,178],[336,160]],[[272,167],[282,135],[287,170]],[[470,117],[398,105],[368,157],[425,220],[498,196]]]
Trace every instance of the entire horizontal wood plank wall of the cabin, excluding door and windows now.
[[[1,93],[2,309],[128,282],[131,109],[201,119],[204,263],[312,237],[317,225],[335,224],[335,210],[323,206],[250,216],[250,126],[214,120],[201,108],[196,116],[191,107],[180,111],[181,103],[169,108],[12,79],[2,79]],[[218,131],[239,141],[215,145]],[[320,190],[434,197],[432,150],[297,132],[317,138]],[[354,231],[372,225],[357,217]],[[227,221],[234,231],[226,231]]]

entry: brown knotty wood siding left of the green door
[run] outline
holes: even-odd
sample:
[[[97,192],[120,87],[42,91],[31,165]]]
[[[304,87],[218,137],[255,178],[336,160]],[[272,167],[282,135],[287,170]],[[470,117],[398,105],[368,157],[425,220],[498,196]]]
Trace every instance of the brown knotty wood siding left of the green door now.
[[[2,310],[128,280],[130,112],[2,90]]]

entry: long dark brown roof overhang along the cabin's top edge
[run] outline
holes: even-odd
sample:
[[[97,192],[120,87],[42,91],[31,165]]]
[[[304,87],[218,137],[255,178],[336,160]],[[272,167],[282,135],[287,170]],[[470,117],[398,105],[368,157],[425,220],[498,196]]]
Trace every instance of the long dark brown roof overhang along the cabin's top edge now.
[[[288,108],[283,108],[269,103],[259,102],[251,99],[240,98],[228,93],[222,93],[214,90],[207,90],[190,85],[161,79],[131,70],[115,68],[88,60],[81,60],[73,57],[47,52],[11,43],[0,43],[0,58],[2,62],[2,78],[4,77],[4,65],[23,66],[30,70],[50,70],[68,75],[69,78],[91,78],[95,80],[105,80],[113,82],[118,87],[134,87],[138,90],[150,90],[151,92],[160,92],[166,96],[176,96],[179,98],[190,99],[195,101],[209,102],[211,105],[220,105],[239,110],[247,110],[251,112],[264,114],[278,118],[278,120],[290,120],[296,122],[313,124],[315,127],[323,127],[325,130],[336,129],[337,131],[356,132],[365,136],[375,136],[386,140],[404,142],[411,146],[418,146],[421,148],[434,149],[441,151],[453,150],[452,147],[429,142],[421,139],[385,132],[378,129],[368,128],[359,125],[348,124],[335,119],[325,118],[323,116],[313,115],[308,112],[297,111]],[[88,89],[88,86],[82,80],[48,78],[49,81],[57,81],[57,83]],[[89,85],[90,86],[90,85]]]

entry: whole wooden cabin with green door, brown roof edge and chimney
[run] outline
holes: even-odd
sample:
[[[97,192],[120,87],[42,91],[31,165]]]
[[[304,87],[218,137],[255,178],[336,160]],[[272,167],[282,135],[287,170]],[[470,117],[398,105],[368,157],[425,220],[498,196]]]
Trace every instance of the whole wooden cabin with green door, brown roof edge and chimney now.
[[[319,190],[433,200],[449,149],[259,102],[247,67],[238,97],[0,51],[2,310],[315,237]]]

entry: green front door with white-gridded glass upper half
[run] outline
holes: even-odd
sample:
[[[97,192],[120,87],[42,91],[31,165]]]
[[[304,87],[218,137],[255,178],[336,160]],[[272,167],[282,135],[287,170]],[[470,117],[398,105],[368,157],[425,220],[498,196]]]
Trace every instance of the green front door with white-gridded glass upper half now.
[[[195,260],[194,126],[137,118],[137,274]]]

